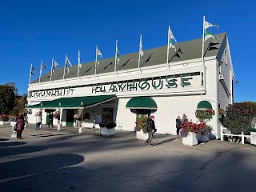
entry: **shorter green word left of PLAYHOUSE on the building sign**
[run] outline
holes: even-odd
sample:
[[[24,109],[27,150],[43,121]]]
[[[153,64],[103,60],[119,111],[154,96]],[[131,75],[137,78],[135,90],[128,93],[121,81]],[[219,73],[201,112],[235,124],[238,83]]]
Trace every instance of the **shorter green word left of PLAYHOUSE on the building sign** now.
[[[31,98],[44,98],[44,97],[54,97],[54,96],[66,96],[73,95],[74,88],[62,87],[52,90],[33,90],[30,93]]]

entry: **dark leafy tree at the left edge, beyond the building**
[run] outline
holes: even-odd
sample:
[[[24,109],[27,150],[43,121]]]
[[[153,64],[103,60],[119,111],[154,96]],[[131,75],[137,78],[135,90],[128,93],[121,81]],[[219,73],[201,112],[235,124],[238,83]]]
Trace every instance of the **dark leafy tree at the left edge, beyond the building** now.
[[[14,82],[0,85],[0,114],[10,114],[14,109],[17,92]]]

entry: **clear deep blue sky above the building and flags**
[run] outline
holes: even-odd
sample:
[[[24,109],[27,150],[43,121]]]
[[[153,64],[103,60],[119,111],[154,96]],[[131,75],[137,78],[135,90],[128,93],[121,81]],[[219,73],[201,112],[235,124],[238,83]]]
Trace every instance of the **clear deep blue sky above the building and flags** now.
[[[120,54],[164,46],[170,26],[178,42],[202,38],[202,17],[218,24],[213,34],[226,32],[234,66],[234,102],[256,102],[256,2],[250,1],[2,1],[0,6],[0,84],[15,82],[26,94],[30,63],[39,77],[40,62],[50,71],[51,59],[64,66],[95,59],[95,46],[103,58],[114,57],[115,40]]]

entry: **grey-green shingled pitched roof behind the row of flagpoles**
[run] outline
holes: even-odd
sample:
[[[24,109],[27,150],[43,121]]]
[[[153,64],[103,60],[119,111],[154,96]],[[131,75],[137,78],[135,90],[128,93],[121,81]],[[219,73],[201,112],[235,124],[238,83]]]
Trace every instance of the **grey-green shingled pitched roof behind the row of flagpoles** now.
[[[225,44],[226,33],[215,35],[216,42],[213,38],[209,38],[205,42],[205,57],[216,56],[219,57],[219,51],[222,51],[222,44]],[[223,43],[224,42],[224,43]],[[175,43],[177,52],[174,49],[170,49],[169,62],[181,62],[195,58],[202,58],[202,38],[194,39],[187,42]],[[224,47],[225,48],[225,47]],[[144,56],[141,60],[141,67],[155,66],[166,63],[167,58],[167,45],[160,46],[158,48],[143,50]],[[95,62],[82,63],[79,76],[93,75]],[[117,65],[118,70],[130,70],[138,68],[138,52],[132,54],[120,55],[120,63]],[[78,77],[78,66],[69,66],[70,73],[65,74],[65,78]],[[97,68],[97,74],[114,72],[114,57],[101,59],[99,58],[99,66]],[[52,74],[52,81],[61,80],[63,78],[63,67],[55,69],[56,74]],[[34,80],[32,83],[37,83],[39,79]],[[50,72],[42,75],[41,82],[50,81]]]

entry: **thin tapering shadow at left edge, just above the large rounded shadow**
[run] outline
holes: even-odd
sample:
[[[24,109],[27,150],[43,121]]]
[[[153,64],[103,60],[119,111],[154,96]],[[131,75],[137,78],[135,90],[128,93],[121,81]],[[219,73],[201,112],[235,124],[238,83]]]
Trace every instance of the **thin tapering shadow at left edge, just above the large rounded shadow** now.
[[[34,153],[40,150],[46,150],[46,146],[24,146],[18,148],[4,148],[0,149],[0,157],[6,157],[15,154],[28,154]]]

